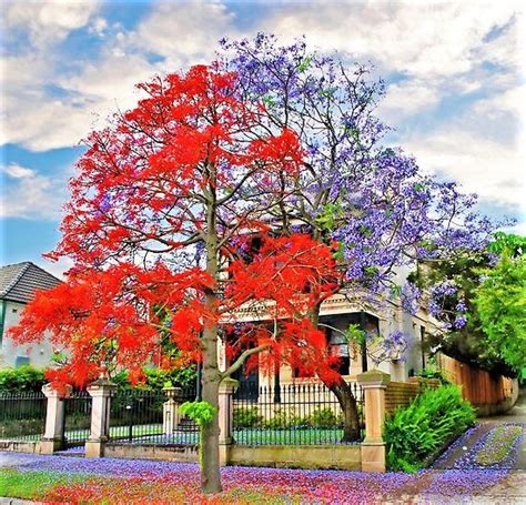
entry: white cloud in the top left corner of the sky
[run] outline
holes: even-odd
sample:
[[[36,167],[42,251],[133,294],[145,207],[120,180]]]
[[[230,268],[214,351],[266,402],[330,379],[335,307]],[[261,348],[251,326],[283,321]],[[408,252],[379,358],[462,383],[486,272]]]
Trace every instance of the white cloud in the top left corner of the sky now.
[[[71,31],[84,27],[99,10],[99,2],[94,0],[12,1],[3,6],[6,28],[27,31],[34,46],[65,39]]]

